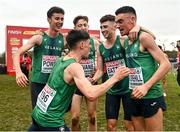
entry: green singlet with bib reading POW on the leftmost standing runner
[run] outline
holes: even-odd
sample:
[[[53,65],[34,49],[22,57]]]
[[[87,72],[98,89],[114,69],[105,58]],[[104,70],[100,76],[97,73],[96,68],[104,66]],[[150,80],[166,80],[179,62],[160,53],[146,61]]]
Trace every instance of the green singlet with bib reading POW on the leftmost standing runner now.
[[[62,34],[52,38],[45,32],[42,37],[41,45],[36,45],[33,51],[32,82],[46,84],[55,61],[61,56],[64,39]]]

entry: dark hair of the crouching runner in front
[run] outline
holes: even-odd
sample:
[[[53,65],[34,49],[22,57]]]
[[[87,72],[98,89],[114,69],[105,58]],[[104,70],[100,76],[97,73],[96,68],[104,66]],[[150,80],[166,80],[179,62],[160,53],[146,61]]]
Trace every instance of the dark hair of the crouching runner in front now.
[[[66,36],[66,41],[70,49],[77,46],[78,42],[82,40],[88,40],[90,38],[89,34],[83,30],[71,30]]]

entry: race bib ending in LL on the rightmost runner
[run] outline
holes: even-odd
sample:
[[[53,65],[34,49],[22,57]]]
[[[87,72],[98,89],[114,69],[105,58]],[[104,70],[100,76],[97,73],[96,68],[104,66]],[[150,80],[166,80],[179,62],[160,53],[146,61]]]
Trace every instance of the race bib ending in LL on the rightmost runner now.
[[[144,84],[142,68],[141,67],[130,68],[129,88],[133,89],[134,87],[140,86],[142,84]]]

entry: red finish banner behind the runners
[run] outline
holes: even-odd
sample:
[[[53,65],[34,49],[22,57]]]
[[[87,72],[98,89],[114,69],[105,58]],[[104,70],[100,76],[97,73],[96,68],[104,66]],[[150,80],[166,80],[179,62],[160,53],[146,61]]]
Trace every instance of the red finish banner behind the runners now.
[[[6,66],[7,74],[15,75],[12,55],[17,52],[19,47],[23,45],[23,39],[29,39],[36,33],[36,30],[47,30],[44,27],[22,27],[22,26],[6,26]],[[66,35],[71,29],[61,29],[61,33]],[[100,38],[99,30],[89,30],[91,36]]]

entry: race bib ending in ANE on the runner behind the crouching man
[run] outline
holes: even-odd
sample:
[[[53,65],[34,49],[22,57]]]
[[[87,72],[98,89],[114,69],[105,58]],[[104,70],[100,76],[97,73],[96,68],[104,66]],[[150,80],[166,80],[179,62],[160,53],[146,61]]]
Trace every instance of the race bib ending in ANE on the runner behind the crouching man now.
[[[83,67],[85,76],[91,76],[95,72],[95,64],[93,59],[83,59],[80,61],[80,64]]]

